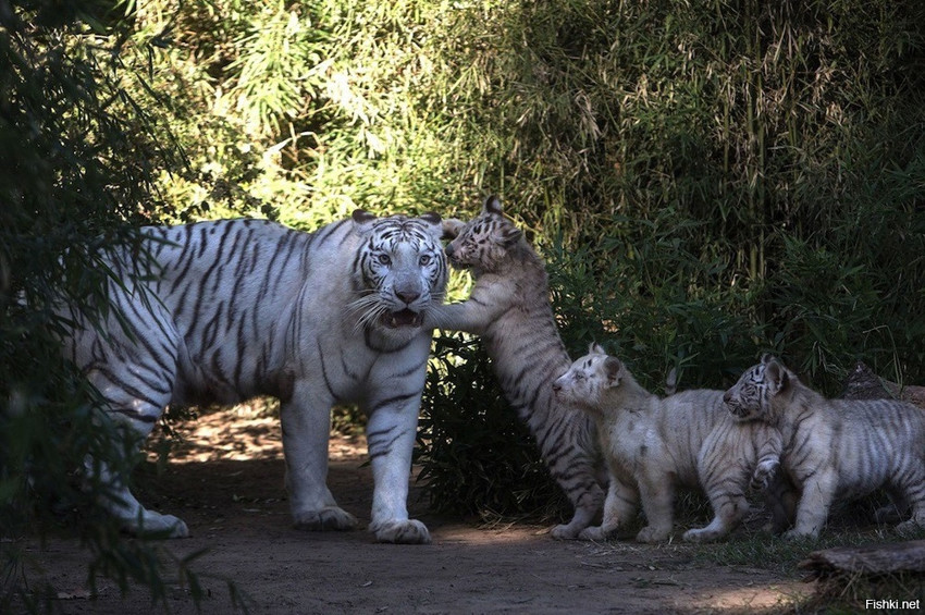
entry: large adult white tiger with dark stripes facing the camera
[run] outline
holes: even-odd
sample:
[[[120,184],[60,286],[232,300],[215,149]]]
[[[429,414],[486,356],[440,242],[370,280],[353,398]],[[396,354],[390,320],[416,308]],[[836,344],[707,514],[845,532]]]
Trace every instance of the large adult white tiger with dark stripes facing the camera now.
[[[143,233],[150,274],[133,275],[131,254],[114,257],[118,315],[98,329],[84,319],[65,344],[108,414],[140,442],[168,404],[274,395],[295,526],[351,529],[325,484],[328,436],[331,406],[358,403],[369,417],[369,529],[381,542],[429,542],[406,499],[432,335],[423,318],[447,276],[440,216],[358,210],[313,233],[262,220]],[[101,472],[115,491],[102,504],[125,529],[187,536],[181,519],[145,509]]]

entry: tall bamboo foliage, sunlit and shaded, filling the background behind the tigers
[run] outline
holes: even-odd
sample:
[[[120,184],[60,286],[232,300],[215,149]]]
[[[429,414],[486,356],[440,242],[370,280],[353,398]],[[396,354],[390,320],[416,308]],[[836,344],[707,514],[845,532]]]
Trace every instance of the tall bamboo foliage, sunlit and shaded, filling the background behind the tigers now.
[[[357,207],[467,217],[498,193],[548,261],[569,350],[601,342],[652,390],[671,367],[721,386],[763,350],[830,394],[856,359],[923,380],[917,0],[155,0],[108,37],[106,2],[14,4],[29,19],[0,33],[0,110],[20,126],[0,134],[4,309],[113,220],[314,229]],[[101,47],[89,26],[52,32],[77,14]],[[69,284],[95,271],[64,268]],[[434,505],[554,501],[478,345],[435,348]]]

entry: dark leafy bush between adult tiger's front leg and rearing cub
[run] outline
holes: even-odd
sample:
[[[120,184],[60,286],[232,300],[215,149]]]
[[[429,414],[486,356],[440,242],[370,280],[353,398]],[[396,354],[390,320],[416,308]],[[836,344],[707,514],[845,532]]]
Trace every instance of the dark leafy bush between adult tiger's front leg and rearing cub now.
[[[443,513],[483,521],[557,517],[565,496],[490,373],[477,340],[436,336],[418,430],[418,480]]]

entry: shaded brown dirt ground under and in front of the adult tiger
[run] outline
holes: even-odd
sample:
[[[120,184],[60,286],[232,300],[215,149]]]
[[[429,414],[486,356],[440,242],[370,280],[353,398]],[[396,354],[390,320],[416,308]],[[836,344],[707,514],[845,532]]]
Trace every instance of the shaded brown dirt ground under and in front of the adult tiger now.
[[[231,413],[231,414],[230,414]],[[292,528],[280,430],[245,409],[182,426],[186,443],[165,472],[145,481],[143,501],[182,517],[192,538],[169,541],[196,559],[206,599],[200,612],[233,613],[226,581],[250,613],[755,613],[782,610],[812,591],[760,567],[704,564],[684,545],[557,542],[548,528],[479,529],[427,512],[412,487],[410,509],[433,544],[377,544],[365,530]],[[365,444],[334,439],[329,484],[340,505],[369,521],[371,477]],[[86,582],[88,555],[76,541],[29,548],[32,564],[58,593],[62,613],[159,613],[145,589],[122,596]],[[196,613],[187,588],[172,583],[171,613]]]

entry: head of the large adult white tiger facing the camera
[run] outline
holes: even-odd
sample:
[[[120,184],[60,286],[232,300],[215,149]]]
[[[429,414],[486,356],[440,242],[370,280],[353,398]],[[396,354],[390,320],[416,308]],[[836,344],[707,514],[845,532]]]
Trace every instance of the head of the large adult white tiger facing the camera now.
[[[361,244],[349,258],[360,297],[349,307],[359,315],[359,327],[410,337],[446,290],[440,216],[377,218],[357,210],[354,225]]]

